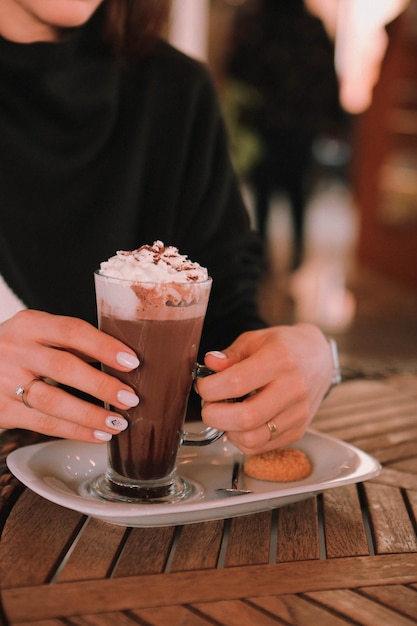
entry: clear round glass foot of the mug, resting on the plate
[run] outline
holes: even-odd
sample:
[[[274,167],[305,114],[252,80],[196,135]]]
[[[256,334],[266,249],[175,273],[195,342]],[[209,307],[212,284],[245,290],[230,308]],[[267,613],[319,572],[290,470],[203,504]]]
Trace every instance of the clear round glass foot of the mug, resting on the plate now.
[[[89,482],[87,492],[110,502],[170,504],[192,498],[198,490],[175,471],[160,480],[137,481],[107,470]]]

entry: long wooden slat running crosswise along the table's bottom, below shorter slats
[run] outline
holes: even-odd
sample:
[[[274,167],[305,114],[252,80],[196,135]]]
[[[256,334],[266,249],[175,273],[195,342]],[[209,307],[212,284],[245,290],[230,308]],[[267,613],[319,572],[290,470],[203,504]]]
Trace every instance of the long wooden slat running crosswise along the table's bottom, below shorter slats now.
[[[85,613],[417,583],[417,554],[347,557],[2,589],[18,623]]]

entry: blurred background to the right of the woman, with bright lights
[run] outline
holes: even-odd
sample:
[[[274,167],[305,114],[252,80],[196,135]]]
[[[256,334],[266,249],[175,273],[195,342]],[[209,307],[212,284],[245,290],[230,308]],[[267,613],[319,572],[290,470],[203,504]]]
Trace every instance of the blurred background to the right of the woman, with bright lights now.
[[[417,371],[417,0],[174,0],[264,241],[260,305],[345,375]]]

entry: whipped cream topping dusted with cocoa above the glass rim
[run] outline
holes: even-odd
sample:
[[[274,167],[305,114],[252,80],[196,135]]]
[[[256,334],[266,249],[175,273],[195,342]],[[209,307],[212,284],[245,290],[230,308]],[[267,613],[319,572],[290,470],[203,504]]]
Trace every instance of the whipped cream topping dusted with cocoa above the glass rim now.
[[[119,250],[100,264],[100,274],[124,280],[155,283],[195,283],[208,279],[207,269],[192,262],[178,248],[154,241],[136,250]]]

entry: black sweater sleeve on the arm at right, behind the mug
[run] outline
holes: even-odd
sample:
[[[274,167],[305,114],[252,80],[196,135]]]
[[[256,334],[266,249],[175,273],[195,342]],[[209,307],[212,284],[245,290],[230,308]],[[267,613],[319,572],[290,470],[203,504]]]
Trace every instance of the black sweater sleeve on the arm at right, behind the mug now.
[[[181,200],[181,246],[213,278],[201,354],[224,349],[247,330],[265,327],[258,306],[261,244],[251,229],[231,165],[227,133],[211,79],[194,96]]]

